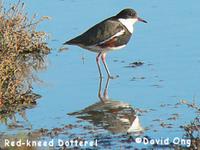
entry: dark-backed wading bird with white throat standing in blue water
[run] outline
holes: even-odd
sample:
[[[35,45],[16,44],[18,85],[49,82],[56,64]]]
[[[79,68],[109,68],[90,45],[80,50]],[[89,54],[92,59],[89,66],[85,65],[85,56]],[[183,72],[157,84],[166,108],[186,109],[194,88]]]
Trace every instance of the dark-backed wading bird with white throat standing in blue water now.
[[[97,53],[96,63],[100,78],[103,77],[100,67],[101,59],[108,78],[114,79],[116,77],[111,76],[106,63],[107,52],[124,48],[134,32],[133,25],[138,21],[147,23],[147,21],[138,17],[137,12],[134,9],[125,8],[117,15],[101,21],[89,28],[86,32],[63,44],[79,46],[83,49]]]

